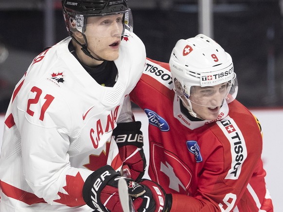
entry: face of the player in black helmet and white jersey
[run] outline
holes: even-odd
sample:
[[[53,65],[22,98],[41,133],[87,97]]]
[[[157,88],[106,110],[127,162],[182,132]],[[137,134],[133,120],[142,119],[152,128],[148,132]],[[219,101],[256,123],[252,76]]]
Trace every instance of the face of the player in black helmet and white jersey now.
[[[88,17],[85,35],[88,51],[97,58],[116,60],[123,33],[123,14]]]

